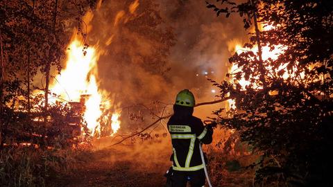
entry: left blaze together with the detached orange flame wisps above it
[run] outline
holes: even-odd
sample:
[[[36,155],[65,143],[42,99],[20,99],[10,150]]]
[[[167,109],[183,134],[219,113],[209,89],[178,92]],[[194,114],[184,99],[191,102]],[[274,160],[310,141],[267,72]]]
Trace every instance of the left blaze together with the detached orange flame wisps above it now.
[[[101,6],[102,1],[99,0],[96,10],[99,10]],[[126,23],[130,17],[135,17],[138,7],[139,0],[134,0],[128,6],[129,14],[125,10],[119,10],[114,18],[113,26],[119,26],[122,22]],[[92,30],[92,25],[89,23],[93,17],[93,12],[87,12],[83,17],[87,33]],[[105,40],[107,46],[112,43],[113,37],[114,35],[110,35]],[[56,81],[51,84],[50,89],[51,92],[58,94],[62,99],[67,98],[65,100],[80,102],[81,105],[84,105],[83,118],[93,136],[100,136],[102,130],[105,129],[112,136],[120,128],[120,112],[117,112],[117,110],[114,110],[113,114],[108,112],[116,106],[110,102],[108,94],[99,89],[99,82],[97,82],[97,61],[103,50],[97,46],[85,48],[83,42],[80,42],[81,40],[77,37],[71,39],[65,69],[61,71],[61,75],[55,78]],[[119,103],[117,103],[117,106],[119,106]]]

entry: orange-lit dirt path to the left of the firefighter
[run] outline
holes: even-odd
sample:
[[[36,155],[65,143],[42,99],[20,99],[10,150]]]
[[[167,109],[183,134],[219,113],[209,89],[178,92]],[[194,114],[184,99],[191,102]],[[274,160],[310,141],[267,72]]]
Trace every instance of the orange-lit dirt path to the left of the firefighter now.
[[[55,183],[67,187],[164,186],[164,172],[171,166],[168,140],[114,147],[110,147],[105,140],[95,142],[97,150],[81,155],[83,161],[75,172],[60,177]]]

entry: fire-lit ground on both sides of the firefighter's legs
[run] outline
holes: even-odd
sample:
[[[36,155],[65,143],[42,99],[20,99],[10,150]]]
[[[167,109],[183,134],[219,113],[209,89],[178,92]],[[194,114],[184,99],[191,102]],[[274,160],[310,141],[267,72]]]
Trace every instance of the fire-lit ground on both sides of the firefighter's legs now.
[[[110,146],[111,142],[110,139],[95,141],[94,151],[80,154],[75,170],[55,179],[53,186],[164,186],[164,173],[171,166],[170,139],[157,138],[116,146]],[[221,154],[211,152],[208,157],[211,161],[209,172],[213,186],[252,186],[253,172],[229,172]]]

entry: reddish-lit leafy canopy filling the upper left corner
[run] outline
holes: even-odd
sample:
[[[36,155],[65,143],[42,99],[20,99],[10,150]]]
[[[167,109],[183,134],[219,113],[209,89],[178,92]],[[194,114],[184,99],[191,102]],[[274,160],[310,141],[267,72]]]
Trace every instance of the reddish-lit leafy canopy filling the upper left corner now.
[[[1,1],[0,30],[6,59],[6,78],[22,77],[29,72],[32,79],[39,69],[45,71],[46,62],[52,62],[60,71],[64,49],[71,34],[71,29],[67,27],[73,28],[76,19],[83,16],[91,3],[93,2],[60,1],[60,8],[54,12],[55,1],[51,0]],[[78,11],[69,11],[70,7],[75,6]],[[55,13],[58,17],[53,28]],[[76,17],[73,17],[74,14]]]

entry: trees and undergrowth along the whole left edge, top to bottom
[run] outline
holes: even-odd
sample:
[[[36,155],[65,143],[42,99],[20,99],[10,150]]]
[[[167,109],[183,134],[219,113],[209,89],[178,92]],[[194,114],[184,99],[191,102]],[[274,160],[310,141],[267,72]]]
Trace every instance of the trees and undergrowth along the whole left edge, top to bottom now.
[[[43,88],[35,80],[47,66],[59,73],[72,29],[95,4],[0,1],[0,186],[49,186],[49,178],[76,162],[72,146],[89,136],[78,136],[80,126],[73,125],[86,128],[82,116],[70,103],[45,109],[44,77]]]

